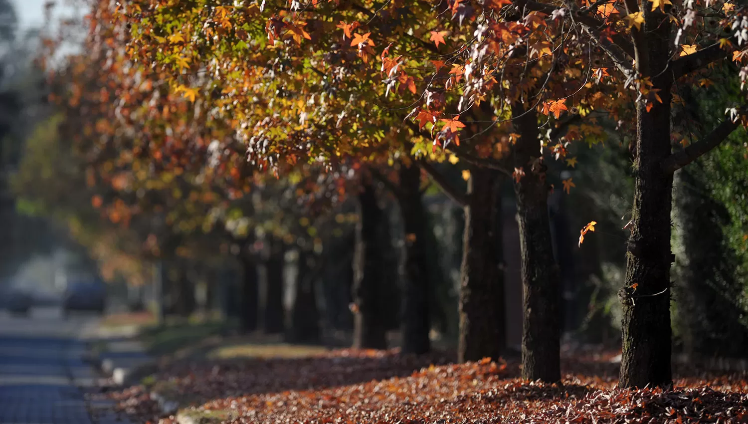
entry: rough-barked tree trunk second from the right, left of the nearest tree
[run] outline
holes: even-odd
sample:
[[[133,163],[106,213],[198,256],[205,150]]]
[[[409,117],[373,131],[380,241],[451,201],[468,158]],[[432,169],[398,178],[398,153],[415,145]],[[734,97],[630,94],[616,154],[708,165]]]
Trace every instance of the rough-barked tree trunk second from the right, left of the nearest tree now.
[[[560,381],[559,270],[554,259],[548,187],[542,164],[535,109],[512,108],[514,126],[521,137],[516,144],[515,168],[524,176],[515,180],[520,234],[524,321],[522,378]]]

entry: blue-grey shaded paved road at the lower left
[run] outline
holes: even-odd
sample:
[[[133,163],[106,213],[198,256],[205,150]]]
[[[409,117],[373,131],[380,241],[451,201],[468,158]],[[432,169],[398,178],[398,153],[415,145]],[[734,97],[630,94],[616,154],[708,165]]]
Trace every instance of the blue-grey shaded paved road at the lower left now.
[[[85,399],[99,376],[85,360],[82,338],[97,324],[88,316],[63,319],[55,308],[28,318],[0,311],[0,424],[116,422],[105,411],[111,404]]]

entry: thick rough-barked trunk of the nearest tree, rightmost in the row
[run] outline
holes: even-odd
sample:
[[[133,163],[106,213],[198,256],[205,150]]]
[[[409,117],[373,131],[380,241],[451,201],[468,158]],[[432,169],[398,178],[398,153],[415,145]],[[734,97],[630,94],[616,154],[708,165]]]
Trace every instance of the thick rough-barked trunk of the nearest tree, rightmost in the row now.
[[[670,22],[663,13],[644,11],[645,24],[638,40],[637,70],[651,77],[662,102],[646,97],[637,102],[637,147],[634,160],[634,207],[628,241],[626,283],[619,291],[623,302],[620,387],[666,386],[670,369],[670,211],[672,174],[664,173],[663,159],[671,153],[669,65]]]

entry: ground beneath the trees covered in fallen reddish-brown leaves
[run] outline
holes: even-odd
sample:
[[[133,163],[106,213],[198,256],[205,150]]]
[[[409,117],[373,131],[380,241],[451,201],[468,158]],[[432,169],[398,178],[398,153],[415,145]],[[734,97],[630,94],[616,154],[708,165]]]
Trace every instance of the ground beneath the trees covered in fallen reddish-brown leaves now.
[[[174,363],[156,381],[203,423],[748,423],[745,375],[676,369],[672,390],[619,390],[610,356],[571,355],[561,385],[522,381],[514,361],[351,350]],[[162,418],[145,387],[110,396],[140,423]]]

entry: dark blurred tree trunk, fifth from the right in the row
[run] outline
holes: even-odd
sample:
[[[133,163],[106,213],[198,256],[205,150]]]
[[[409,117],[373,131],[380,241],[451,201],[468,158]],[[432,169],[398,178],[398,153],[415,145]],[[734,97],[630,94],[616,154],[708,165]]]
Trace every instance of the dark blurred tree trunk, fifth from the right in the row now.
[[[377,310],[384,283],[384,251],[378,231],[384,221],[375,188],[362,182],[359,200],[359,220],[356,226],[356,257],[354,264],[353,298],[355,302],[354,348],[387,348],[387,331],[381,312]]]

